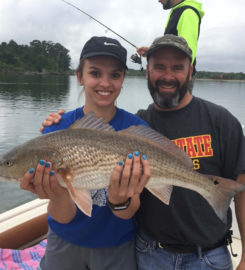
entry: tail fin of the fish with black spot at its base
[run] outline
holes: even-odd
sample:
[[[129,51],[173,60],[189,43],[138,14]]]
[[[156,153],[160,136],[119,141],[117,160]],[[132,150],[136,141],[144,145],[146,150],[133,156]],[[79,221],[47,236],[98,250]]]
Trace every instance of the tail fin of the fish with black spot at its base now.
[[[217,216],[226,224],[227,210],[231,200],[237,192],[245,190],[245,184],[219,176],[206,176],[209,177],[214,184],[213,192],[209,192],[206,199],[213,207]]]

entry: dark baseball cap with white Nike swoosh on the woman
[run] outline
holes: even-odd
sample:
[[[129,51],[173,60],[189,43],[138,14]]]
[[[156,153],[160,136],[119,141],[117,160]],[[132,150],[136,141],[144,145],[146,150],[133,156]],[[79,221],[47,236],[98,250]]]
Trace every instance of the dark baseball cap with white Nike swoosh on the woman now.
[[[80,59],[94,56],[112,56],[120,61],[125,69],[128,69],[127,50],[116,40],[108,37],[92,37],[81,52]]]

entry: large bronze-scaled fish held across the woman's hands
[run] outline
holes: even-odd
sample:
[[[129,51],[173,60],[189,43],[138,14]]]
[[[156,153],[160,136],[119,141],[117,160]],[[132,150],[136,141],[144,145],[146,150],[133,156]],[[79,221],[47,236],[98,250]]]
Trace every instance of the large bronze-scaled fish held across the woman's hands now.
[[[77,206],[91,216],[89,190],[105,188],[115,164],[135,150],[145,154],[151,167],[146,188],[159,200],[169,204],[172,187],[198,192],[226,222],[231,198],[245,185],[193,170],[191,159],[173,142],[145,126],[133,126],[115,132],[90,113],[69,129],[34,138],[0,159],[0,177],[18,180],[35,168],[40,159],[52,161],[60,184],[69,190]],[[3,180],[3,179],[2,179]]]

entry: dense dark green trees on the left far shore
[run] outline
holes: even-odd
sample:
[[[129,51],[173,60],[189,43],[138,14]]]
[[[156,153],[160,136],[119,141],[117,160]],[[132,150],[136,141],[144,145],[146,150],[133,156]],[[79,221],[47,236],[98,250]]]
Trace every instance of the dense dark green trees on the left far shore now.
[[[65,72],[70,63],[69,50],[60,43],[33,40],[18,45],[10,40],[0,44],[0,72]]]

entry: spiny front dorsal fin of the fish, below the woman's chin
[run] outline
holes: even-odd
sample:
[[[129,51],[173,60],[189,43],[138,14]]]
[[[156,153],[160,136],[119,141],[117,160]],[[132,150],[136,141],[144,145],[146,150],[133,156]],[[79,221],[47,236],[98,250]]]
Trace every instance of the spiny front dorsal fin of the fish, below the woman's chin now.
[[[84,115],[83,118],[78,119],[69,127],[69,129],[80,128],[115,131],[114,128],[107,124],[102,117],[98,118],[93,112],[89,112]]]

